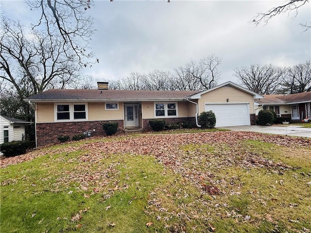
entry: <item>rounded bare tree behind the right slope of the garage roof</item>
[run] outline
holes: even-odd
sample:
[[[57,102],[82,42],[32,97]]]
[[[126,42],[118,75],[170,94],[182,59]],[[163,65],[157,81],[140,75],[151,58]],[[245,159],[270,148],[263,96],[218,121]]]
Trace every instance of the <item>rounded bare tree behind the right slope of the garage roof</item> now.
[[[240,84],[260,95],[277,94],[282,83],[283,69],[270,65],[251,65],[234,70]]]

